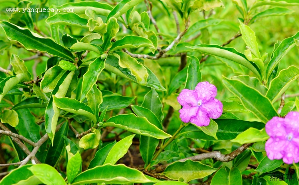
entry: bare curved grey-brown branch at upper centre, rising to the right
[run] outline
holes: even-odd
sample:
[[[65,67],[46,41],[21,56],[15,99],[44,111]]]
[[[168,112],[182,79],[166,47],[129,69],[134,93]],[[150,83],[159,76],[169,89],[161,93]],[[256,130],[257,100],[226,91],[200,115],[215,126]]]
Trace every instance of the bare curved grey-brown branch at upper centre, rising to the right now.
[[[128,51],[128,49],[125,49],[125,48],[123,49],[123,51],[126,52],[127,54],[129,54],[130,56],[135,57],[135,58],[149,58],[149,59],[152,59],[152,60],[157,60],[157,59],[161,58],[164,55],[164,53],[169,51],[177,42],[180,41],[182,36],[184,36],[184,34],[187,32],[189,24],[190,24],[190,19],[188,19],[188,21],[185,23],[185,29],[180,34],[177,35],[177,37],[168,45],[168,47],[166,47],[165,49],[160,50],[155,56],[150,56],[150,55],[147,55],[147,54],[134,54],[134,53],[131,53],[130,51]]]

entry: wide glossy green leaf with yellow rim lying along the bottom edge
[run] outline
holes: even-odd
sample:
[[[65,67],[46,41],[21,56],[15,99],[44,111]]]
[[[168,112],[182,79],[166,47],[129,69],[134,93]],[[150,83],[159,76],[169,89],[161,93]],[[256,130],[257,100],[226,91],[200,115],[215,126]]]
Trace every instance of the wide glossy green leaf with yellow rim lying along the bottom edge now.
[[[113,172],[113,173],[112,173]],[[107,183],[107,184],[128,184],[128,183],[150,183],[151,181],[142,172],[126,167],[125,165],[98,166],[79,174],[72,185]]]

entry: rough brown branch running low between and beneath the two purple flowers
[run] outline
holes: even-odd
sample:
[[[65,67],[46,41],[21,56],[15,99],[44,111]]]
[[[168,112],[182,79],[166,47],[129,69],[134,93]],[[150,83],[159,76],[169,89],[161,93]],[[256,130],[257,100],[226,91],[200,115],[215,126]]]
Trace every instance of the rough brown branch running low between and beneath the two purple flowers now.
[[[181,160],[178,160],[178,161],[179,162],[184,162],[186,160],[202,161],[202,160],[206,160],[206,159],[215,159],[215,160],[221,161],[221,162],[230,162],[233,159],[235,159],[238,155],[240,155],[242,152],[244,152],[251,145],[253,145],[253,143],[244,144],[241,147],[239,147],[237,150],[233,151],[230,154],[226,154],[226,155],[221,154],[221,152],[214,151],[214,152],[210,152],[210,153],[203,153],[203,154],[199,154],[199,155],[196,155],[196,156],[188,157],[188,158],[181,159]],[[169,164],[166,164],[166,165],[161,165],[158,168],[150,171],[150,173],[152,173],[152,174],[161,173],[165,170],[165,168],[167,166],[169,166],[171,164],[172,163],[169,163]]]

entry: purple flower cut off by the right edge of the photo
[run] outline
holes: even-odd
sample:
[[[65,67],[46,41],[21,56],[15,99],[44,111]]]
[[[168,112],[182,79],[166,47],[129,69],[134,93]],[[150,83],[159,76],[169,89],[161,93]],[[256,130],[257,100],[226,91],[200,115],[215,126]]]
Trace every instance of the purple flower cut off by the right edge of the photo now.
[[[299,112],[289,112],[285,118],[273,117],[266,124],[270,136],[265,150],[269,159],[283,159],[286,164],[299,162]]]

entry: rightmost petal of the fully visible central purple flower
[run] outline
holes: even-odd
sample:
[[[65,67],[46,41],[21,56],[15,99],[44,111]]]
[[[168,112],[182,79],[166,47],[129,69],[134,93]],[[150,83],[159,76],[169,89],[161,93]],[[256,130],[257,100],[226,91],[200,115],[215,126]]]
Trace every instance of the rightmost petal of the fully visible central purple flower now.
[[[208,116],[212,119],[217,119],[221,116],[223,111],[223,105],[221,101],[216,98],[211,98],[208,102],[201,105],[202,111],[208,113]]]

